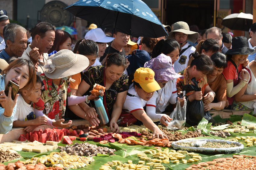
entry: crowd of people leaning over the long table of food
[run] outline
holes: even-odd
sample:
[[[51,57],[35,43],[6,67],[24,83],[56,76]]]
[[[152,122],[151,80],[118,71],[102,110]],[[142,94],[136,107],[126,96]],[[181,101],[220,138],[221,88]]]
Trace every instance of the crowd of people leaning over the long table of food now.
[[[212,109],[256,108],[256,23],[249,40],[232,38],[218,27],[199,34],[183,21],[172,30],[164,26],[168,36],[139,37],[138,42],[122,30],[108,37],[92,26],[72,49],[69,33],[48,22],[26,30],[9,23],[2,11],[1,134],[12,127],[30,132],[42,124],[66,128],[74,119],[98,126],[94,100],[99,96],[91,94],[95,84],[106,87],[100,96],[112,132],[144,124],[153,136],[165,138],[156,124],[172,121],[177,101],[184,107],[185,101],[191,105],[202,100],[204,115]],[[4,91],[9,81],[19,85],[14,98],[12,87],[8,94]],[[192,86],[199,90],[188,90]]]

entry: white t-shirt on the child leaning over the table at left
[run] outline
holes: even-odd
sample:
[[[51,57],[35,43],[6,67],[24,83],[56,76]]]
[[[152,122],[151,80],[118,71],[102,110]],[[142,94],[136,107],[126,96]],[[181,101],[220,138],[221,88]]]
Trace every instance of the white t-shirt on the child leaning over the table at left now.
[[[17,111],[13,121],[27,121],[35,119],[34,108],[31,104],[25,102],[21,95],[18,96],[17,100]]]

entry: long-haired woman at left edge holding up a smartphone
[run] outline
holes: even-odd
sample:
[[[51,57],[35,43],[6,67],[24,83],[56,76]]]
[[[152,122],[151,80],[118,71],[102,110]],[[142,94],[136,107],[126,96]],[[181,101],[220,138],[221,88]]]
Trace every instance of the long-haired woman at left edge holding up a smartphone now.
[[[5,95],[4,89],[8,81],[12,80],[18,84],[20,89],[23,87],[31,88],[36,84],[36,71],[34,64],[23,58],[14,60],[0,75],[0,134],[6,134],[12,129],[12,122],[16,113],[17,99],[19,94],[12,100],[12,87],[9,88],[8,96]]]

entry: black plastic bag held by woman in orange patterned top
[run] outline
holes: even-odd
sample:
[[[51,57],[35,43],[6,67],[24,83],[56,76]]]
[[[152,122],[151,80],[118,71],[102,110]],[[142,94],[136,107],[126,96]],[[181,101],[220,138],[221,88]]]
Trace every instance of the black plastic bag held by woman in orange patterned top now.
[[[196,78],[192,78],[191,81],[194,83],[194,85],[184,85],[183,90],[185,90],[186,92],[201,91],[201,87],[198,87],[198,82],[196,81]],[[191,126],[195,126],[198,124],[198,122],[202,120],[203,117],[209,122],[213,122],[210,113],[204,112],[203,100],[193,100],[192,102],[187,100],[186,122]]]

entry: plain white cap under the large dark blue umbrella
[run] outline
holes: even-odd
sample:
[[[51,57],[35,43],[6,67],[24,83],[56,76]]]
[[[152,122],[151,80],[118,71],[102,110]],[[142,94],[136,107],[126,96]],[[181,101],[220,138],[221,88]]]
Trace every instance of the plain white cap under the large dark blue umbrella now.
[[[95,28],[90,31],[88,31],[85,36],[85,40],[92,40],[94,42],[103,42],[103,43],[108,43],[113,41],[115,38],[112,37],[107,37],[105,33],[102,31],[100,28]]]

